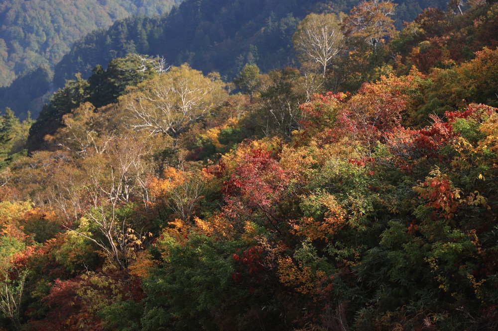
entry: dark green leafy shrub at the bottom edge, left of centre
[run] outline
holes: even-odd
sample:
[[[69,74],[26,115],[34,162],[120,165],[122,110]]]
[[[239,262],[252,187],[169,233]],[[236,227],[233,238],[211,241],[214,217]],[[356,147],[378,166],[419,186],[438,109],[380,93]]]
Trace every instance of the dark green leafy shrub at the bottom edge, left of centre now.
[[[184,247],[166,240],[167,266],[144,282],[150,293],[142,318],[144,330],[167,325],[178,330],[214,329],[215,317],[234,309],[229,302],[237,302],[231,278],[236,243],[214,243],[197,235]]]

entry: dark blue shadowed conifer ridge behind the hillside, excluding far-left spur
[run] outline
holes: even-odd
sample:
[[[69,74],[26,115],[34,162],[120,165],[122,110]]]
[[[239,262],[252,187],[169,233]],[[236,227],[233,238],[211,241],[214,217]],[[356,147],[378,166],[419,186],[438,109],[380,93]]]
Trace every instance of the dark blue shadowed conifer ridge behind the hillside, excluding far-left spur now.
[[[263,72],[295,64],[291,38],[297,22],[311,11],[348,12],[360,1],[184,1],[168,16],[154,22],[157,29],[141,43],[138,24],[131,23],[127,43],[119,44],[113,39],[122,25],[111,27],[87,36],[73,47],[55,70],[54,81],[60,85],[72,79],[74,73],[83,77],[90,75],[92,65],[104,65],[112,59],[108,39],[111,37],[115,53],[123,57],[133,41],[134,51],[142,54],[161,55],[173,65],[184,62],[204,73],[220,72],[229,79],[242,69],[245,63],[255,63]],[[396,1],[394,1],[396,3]],[[401,5],[397,17],[398,27],[403,19],[412,20],[429,5],[444,7],[446,1],[398,1]],[[410,8],[408,12],[407,8]],[[151,22],[152,23],[152,22]],[[154,24],[152,23],[152,24]],[[125,24],[126,25],[126,24]],[[145,29],[146,30],[146,29]],[[162,30],[162,35],[158,31]],[[146,32],[145,35],[148,35]],[[142,47],[140,47],[142,46]],[[86,47],[99,51],[86,52]],[[81,51],[79,50],[81,48]],[[78,63],[79,62],[79,63]]]

